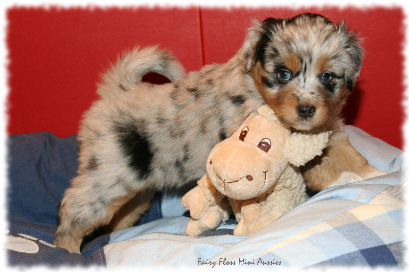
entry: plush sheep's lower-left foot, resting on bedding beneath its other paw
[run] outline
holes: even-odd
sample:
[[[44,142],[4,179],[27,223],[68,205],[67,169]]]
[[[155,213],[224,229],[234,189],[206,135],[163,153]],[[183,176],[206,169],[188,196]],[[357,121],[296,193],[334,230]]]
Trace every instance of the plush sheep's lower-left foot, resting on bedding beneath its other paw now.
[[[220,225],[220,222],[224,217],[225,211],[223,211],[218,205],[210,206],[205,215],[199,219],[189,219],[185,233],[187,235],[195,235],[205,231],[214,230]]]

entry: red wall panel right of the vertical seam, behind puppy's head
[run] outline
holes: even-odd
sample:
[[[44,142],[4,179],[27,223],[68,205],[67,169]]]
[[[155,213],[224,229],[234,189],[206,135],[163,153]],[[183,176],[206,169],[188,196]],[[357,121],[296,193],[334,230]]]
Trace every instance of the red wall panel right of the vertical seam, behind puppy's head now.
[[[360,33],[366,50],[361,76],[343,111],[346,123],[392,145],[403,147],[403,19],[400,8],[231,8],[201,9],[205,64],[223,63],[244,41],[255,18],[319,13]],[[215,31],[217,30],[217,31]]]

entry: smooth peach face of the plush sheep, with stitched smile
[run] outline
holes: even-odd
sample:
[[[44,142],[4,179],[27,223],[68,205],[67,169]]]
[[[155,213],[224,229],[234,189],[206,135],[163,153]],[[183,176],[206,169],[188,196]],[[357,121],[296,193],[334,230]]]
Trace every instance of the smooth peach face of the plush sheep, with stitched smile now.
[[[247,118],[210,153],[206,167],[213,186],[235,200],[264,193],[288,164],[290,136],[288,129],[259,114]]]

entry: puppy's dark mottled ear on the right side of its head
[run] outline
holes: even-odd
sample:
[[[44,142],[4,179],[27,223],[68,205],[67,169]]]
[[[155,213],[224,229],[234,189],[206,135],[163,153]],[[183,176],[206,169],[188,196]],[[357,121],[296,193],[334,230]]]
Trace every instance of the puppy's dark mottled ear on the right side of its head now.
[[[363,48],[361,47],[361,39],[358,38],[358,33],[349,30],[344,21],[337,24],[338,33],[342,36],[341,46],[343,46],[351,58],[350,65],[345,72],[345,84],[347,89],[352,91],[356,78],[359,76],[362,67]]]

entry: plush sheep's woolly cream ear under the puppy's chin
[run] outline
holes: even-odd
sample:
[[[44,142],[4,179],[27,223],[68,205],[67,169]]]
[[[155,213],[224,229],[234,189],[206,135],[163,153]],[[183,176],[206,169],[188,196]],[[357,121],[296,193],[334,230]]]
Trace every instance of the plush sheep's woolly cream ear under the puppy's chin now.
[[[330,135],[330,131],[319,134],[293,133],[290,138],[289,162],[295,166],[301,166],[315,156],[321,155],[323,149],[327,147]]]

